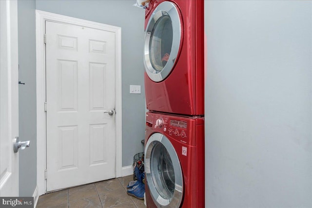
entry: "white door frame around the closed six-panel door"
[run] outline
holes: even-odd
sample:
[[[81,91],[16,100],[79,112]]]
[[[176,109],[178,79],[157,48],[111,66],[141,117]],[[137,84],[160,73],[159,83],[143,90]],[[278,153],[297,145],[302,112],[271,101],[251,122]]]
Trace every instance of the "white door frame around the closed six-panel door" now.
[[[98,30],[105,30],[115,33],[116,40],[116,114],[115,114],[115,132],[116,132],[116,177],[122,176],[122,103],[121,103],[121,28],[58,15],[50,12],[36,10],[36,92],[37,92],[37,185],[39,195],[46,193],[45,170],[46,170],[46,113],[44,111],[46,90],[45,90],[45,21],[54,21],[58,23],[73,24],[82,27],[89,27]]]

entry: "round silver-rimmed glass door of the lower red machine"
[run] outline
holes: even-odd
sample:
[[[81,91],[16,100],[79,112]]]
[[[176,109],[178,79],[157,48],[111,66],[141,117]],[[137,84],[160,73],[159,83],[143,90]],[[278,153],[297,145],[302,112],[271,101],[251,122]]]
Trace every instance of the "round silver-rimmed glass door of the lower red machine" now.
[[[146,181],[158,208],[179,208],[183,177],[179,158],[169,139],[154,133],[145,146]]]

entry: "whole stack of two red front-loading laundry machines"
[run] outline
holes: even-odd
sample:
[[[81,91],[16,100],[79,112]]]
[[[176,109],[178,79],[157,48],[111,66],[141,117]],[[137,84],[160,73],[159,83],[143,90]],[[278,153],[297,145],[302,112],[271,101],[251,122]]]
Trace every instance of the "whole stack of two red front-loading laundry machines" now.
[[[203,208],[204,1],[145,10],[145,193],[148,208]]]

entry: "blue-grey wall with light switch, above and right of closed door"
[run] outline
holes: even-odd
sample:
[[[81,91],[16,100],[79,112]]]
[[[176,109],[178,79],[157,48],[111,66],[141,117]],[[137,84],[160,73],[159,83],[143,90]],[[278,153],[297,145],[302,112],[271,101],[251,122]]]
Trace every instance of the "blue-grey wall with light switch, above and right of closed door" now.
[[[144,9],[133,0],[37,0],[36,9],[121,27],[122,166],[143,151],[145,131]],[[129,94],[129,85],[141,85],[141,94]],[[117,112],[118,113],[118,112]],[[121,131],[121,130],[119,130]]]

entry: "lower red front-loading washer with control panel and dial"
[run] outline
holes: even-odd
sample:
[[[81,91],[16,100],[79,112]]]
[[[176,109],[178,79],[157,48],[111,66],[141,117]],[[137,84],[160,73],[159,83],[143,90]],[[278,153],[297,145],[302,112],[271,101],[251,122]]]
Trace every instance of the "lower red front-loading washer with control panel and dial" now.
[[[146,113],[148,208],[204,208],[204,118]]]

